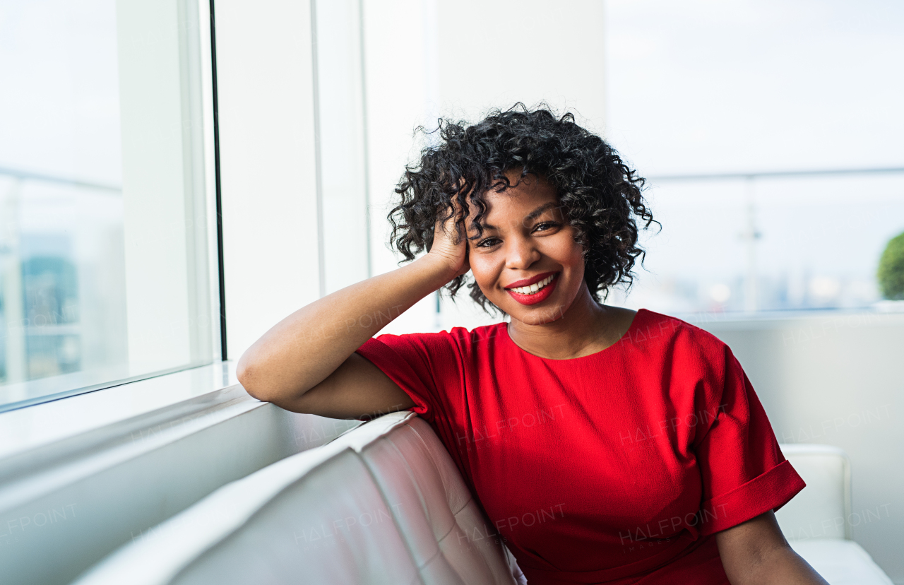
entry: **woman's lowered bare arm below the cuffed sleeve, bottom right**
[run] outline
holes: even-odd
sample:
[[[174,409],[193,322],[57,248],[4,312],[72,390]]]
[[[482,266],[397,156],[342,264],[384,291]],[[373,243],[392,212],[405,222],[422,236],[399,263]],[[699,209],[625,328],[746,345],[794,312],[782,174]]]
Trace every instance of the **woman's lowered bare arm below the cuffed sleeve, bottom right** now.
[[[716,533],[731,585],[828,585],[788,545],[771,511]]]

